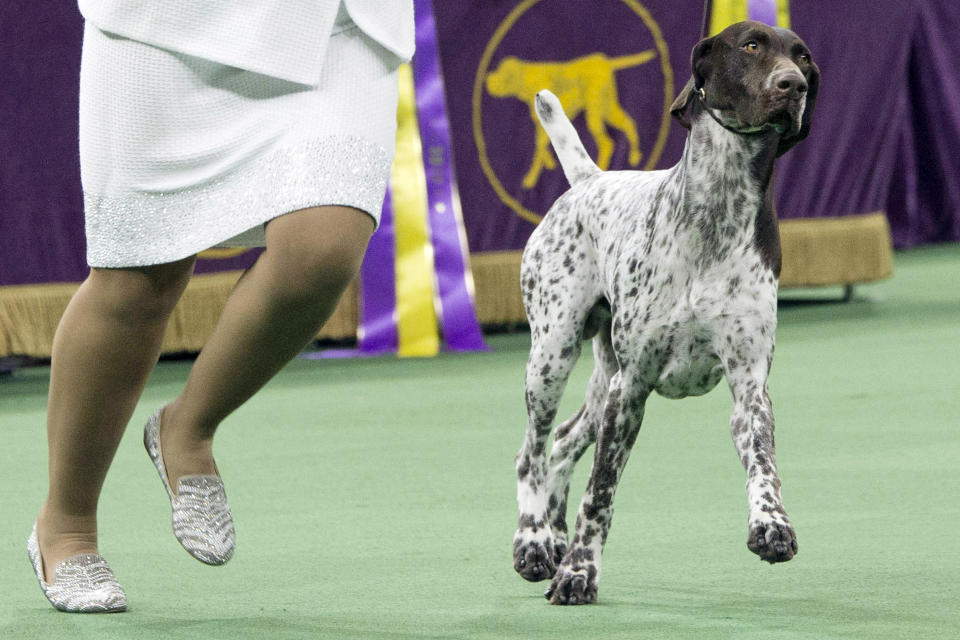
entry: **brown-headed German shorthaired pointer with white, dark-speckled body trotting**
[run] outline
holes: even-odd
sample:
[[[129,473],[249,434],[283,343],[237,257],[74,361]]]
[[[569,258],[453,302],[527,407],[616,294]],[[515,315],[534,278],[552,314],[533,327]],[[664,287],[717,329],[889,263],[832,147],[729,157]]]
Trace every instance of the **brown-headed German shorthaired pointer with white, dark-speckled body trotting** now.
[[[780,274],[773,164],[806,137],[820,72],[796,34],[757,22],[701,40],[691,62],[693,77],[671,107],[690,129],[672,169],[600,171],[557,98],[544,91],[537,100],[572,188],[523,254],[532,346],[513,554],[527,580],[553,578],[545,595],[554,604],[597,598],[614,492],[647,397],[700,395],[724,375],[747,474],[747,547],[771,563],[797,552],[767,393]],[[557,427],[547,462],[557,404],[590,338],[584,404]],[[570,474],[594,441],[568,548]]]

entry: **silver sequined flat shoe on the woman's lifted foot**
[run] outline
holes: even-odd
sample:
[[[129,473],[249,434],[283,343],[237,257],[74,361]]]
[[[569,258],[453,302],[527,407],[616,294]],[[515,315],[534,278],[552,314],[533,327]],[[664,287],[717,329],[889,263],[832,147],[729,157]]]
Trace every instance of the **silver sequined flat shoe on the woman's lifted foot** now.
[[[224,564],[233,556],[233,516],[220,476],[183,476],[177,480],[177,493],[170,490],[167,470],[160,451],[160,414],[157,410],[143,429],[143,446],[170,498],[173,535],[187,552],[200,562]]]

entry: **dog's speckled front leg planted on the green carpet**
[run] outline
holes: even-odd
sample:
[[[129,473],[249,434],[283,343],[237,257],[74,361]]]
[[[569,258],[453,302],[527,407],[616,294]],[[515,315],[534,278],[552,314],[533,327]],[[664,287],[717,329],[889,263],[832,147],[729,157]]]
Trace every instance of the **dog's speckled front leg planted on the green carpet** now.
[[[610,381],[573,542],[544,594],[552,604],[589,604],[597,599],[600,556],[613,519],[614,493],[640,430],[649,393],[649,388],[622,372]]]

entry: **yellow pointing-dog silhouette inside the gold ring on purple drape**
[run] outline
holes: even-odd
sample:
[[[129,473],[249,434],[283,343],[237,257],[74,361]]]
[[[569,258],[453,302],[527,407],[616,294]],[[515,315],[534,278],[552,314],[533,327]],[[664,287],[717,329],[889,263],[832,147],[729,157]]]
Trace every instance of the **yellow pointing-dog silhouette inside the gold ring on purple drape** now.
[[[532,188],[540,179],[543,168],[557,166],[550,151],[550,139],[537,120],[534,99],[541,89],[549,89],[563,105],[572,120],[582,112],[587,129],[597,144],[597,165],[610,166],[613,139],[607,134],[607,125],[619,129],[630,143],[630,164],[640,164],[640,145],[637,125],[620,106],[614,73],[653,60],[652,49],[640,53],[610,58],[592,53],[568,62],[529,62],[513,56],[504,58],[496,71],[487,76],[487,91],[497,98],[513,97],[522,100],[530,109],[530,118],[537,129],[536,151],[530,170],[523,178],[525,189]]]

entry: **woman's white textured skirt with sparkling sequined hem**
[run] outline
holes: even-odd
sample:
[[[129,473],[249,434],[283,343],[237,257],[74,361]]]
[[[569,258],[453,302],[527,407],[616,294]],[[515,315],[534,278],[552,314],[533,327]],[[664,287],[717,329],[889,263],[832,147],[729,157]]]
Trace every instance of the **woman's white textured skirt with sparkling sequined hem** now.
[[[345,12],[316,87],[88,23],[80,72],[88,264],[263,246],[267,221],[319,205],[379,222],[396,136],[395,60]]]

